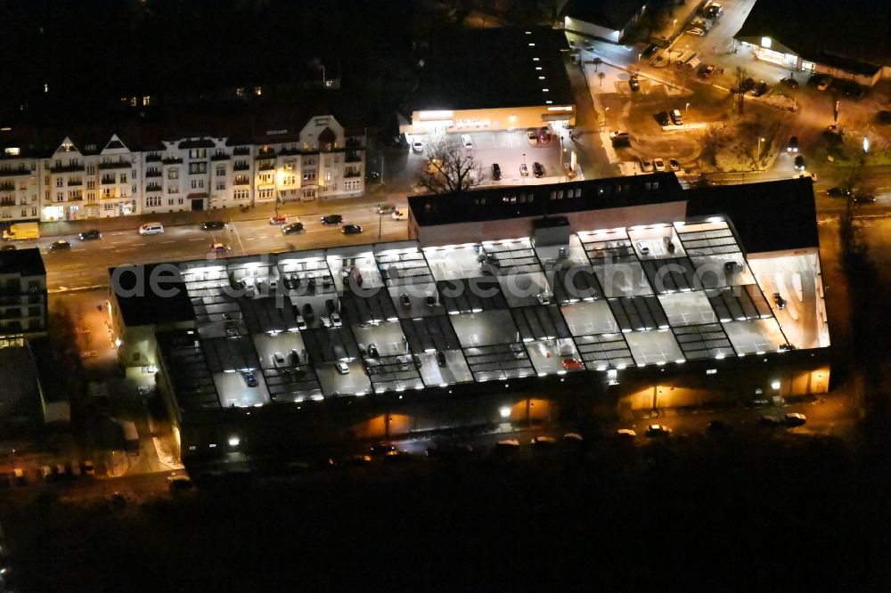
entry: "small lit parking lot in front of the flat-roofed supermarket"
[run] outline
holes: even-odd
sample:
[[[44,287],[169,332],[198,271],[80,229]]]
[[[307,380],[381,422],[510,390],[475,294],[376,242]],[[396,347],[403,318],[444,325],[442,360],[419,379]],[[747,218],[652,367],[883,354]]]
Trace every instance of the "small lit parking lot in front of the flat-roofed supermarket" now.
[[[520,185],[522,183],[554,183],[566,180],[563,167],[560,163],[560,135],[551,134],[548,142],[531,144],[527,139],[526,130],[514,130],[504,132],[465,132],[462,134],[448,134],[448,137],[456,146],[461,146],[461,136],[469,135],[472,148],[463,148],[465,152],[472,154],[483,173],[482,185]],[[414,135],[411,140],[420,138],[424,146],[431,141],[429,134]],[[411,141],[410,141],[411,142]],[[563,133],[563,160],[570,162],[572,150],[568,132]],[[412,150],[409,157],[409,168],[418,170],[422,167],[426,154]],[[528,175],[520,175],[520,167],[526,163]],[[536,178],[533,172],[534,163],[541,163],[544,167],[544,176]],[[497,163],[501,167],[502,178],[495,181],[492,178],[492,165]]]

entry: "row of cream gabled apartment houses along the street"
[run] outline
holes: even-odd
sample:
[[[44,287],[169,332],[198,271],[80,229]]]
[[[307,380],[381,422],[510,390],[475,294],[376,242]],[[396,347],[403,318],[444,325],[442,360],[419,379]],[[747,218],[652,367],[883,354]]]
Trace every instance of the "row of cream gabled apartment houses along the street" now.
[[[208,210],[364,193],[364,132],[331,115],[252,130],[221,121],[183,137],[162,126],[0,132],[0,222]],[[59,143],[55,143],[59,142]]]

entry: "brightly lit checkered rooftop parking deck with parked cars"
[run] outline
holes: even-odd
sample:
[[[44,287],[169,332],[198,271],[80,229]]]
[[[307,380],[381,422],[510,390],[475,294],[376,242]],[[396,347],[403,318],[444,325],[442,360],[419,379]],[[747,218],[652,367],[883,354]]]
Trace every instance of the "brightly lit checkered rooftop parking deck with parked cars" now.
[[[196,329],[159,337],[180,405],[828,345],[816,257],[750,264],[720,217],[579,232],[556,257],[524,238],[346,249],[176,264],[197,313]]]

